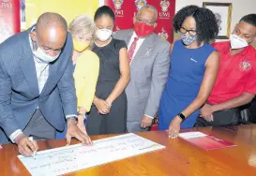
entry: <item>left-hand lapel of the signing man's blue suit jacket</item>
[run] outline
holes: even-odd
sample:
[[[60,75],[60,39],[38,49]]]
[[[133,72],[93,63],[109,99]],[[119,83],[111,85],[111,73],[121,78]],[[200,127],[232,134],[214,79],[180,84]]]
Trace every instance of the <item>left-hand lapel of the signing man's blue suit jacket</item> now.
[[[29,30],[27,31],[29,35]],[[23,45],[23,53],[22,53],[22,59],[20,61],[20,65],[22,66],[23,74],[29,85],[31,93],[34,95],[39,95],[36,66],[35,66],[34,56],[32,53],[32,49],[30,47],[28,36],[27,36],[26,42],[24,42],[24,45]]]

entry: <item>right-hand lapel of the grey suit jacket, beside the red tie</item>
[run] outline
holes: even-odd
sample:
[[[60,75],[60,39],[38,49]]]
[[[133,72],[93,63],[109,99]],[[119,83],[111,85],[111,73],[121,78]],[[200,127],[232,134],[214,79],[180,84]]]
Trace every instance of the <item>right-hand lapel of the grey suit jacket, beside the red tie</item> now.
[[[134,64],[134,62],[139,62],[143,58],[149,57],[151,52],[154,49],[154,35],[150,35],[150,37],[146,37],[143,40],[143,44],[141,45],[140,49],[136,52],[134,55],[134,58],[132,60],[132,63],[130,66]]]

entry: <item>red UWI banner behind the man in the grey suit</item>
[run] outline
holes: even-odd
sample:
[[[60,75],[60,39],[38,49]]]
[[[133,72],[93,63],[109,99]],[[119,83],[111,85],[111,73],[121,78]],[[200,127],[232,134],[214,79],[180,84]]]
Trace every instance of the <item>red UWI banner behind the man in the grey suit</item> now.
[[[158,9],[158,26],[156,34],[173,42],[173,16],[175,0],[105,0],[105,5],[112,7],[116,22],[115,31],[131,29],[133,17],[144,5],[152,5]]]

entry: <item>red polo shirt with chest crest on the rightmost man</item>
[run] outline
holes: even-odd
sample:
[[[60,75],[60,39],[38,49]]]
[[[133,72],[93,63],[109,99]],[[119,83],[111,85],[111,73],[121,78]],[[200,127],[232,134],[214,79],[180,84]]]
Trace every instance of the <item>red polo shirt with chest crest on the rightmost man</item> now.
[[[214,43],[220,54],[218,77],[208,98],[210,104],[219,104],[242,95],[256,95],[256,50],[248,46],[231,55],[230,41]]]

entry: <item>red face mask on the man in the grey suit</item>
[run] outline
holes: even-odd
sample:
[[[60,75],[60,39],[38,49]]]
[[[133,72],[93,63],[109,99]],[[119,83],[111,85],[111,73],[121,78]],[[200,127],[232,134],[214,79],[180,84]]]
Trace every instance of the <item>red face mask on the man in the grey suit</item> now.
[[[135,22],[134,31],[138,37],[148,37],[154,32],[154,25],[148,25],[146,22]]]

